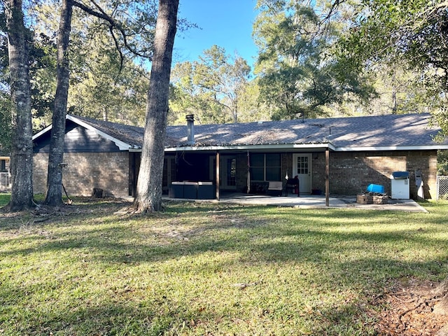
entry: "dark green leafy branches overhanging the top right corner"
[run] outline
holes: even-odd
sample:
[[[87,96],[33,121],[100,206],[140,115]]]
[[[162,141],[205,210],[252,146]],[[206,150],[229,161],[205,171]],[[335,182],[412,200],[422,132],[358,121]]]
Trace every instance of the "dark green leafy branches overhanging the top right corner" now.
[[[407,87],[416,106],[448,130],[448,1],[364,0],[358,8],[339,56],[351,69],[387,67],[392,79],[398,71],[412,73]]]

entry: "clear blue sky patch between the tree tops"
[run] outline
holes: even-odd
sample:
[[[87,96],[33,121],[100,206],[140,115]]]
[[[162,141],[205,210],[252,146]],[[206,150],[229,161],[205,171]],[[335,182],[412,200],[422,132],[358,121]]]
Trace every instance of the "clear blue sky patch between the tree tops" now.
[[[181,0],[179,17],[200,29],[178,33],[174,41],[174,62],[194,61],[216,44],[235,52],[253,64],[257,48],[252,40],[255,0]]]

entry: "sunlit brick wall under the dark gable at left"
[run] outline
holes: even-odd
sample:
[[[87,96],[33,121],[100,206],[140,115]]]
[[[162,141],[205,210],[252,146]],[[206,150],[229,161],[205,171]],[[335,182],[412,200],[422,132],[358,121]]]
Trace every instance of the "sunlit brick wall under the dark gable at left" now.
[[[129,158],[120,153],[64,153],[64,187],[73,196],[90,196],[93,188],[102,188],[106,196],[129,194]],[[48,154],[34,154],[34,193],[46,192]]]

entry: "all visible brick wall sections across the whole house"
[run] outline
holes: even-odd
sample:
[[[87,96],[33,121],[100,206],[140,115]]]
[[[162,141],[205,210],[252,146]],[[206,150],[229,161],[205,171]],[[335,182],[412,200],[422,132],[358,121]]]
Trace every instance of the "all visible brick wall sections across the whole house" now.
[[[281,176],[291,169],[293,155],[281,155]],[[129,189],[129,159],[121,153],[65,153],[64,186],[69,195],[90,196],[93,188],[102,188],[107,195],[125,197]],[[45,193],[48,154],[34,155],[34,192]],[[325,190],[325,153],[311,156],[311,188]],[[396,151],[367,153],[330,153],[330,193],[356,195],[370,183],[383,185],[391,194],[392,172],[407,171],[410,195],[416,198],[414,172],[423,174],[425,198],[435,198],[437,179],[436,151]],[[237,155],[237,191],[243,192],[247,179],[247,156]],[[288,172],[290,174],[290,172]],[[284,183],[284,181],[283,181]]]

